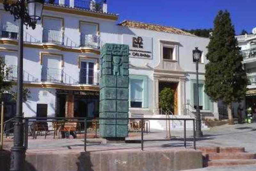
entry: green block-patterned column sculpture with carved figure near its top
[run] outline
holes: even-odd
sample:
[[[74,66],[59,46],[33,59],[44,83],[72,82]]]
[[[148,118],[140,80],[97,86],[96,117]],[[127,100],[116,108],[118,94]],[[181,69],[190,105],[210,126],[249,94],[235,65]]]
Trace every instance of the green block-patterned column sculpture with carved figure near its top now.
[[[101,49],[100,118],[128,118],[129,46],[105,44]],[[128,120],[100,120],[100,136],[124,140]]]

